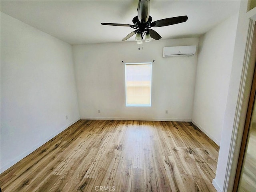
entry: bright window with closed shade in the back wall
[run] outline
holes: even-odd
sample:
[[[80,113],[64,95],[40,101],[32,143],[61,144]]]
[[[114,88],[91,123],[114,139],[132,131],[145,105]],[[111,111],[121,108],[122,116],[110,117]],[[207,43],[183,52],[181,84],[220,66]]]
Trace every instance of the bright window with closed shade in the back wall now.
[[[126,63],[126,106],[151,106],[152,63]]]

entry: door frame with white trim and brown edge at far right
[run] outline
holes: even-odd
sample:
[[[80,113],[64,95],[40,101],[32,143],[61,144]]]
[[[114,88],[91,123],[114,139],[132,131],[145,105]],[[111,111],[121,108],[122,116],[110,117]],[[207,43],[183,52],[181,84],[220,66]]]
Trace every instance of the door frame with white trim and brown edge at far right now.
[[[252,79],[254,72],[251,72],[248,69],[252,69],[255,67],[255,63],[253,66],[250,65],[250,55],[251,55],[251,48],[252,48],[252,39],[253,39],[253,32],[254,32],[254,26],[256,21],[256,14],[255,14],[256,8],[253,8],[250,10],[250,14],[253,12],[253,14],[248,17],[250,19],[250,24],[248,27],[248,36],[247,36],[247,43],[246,43],[246,51],[244,54],[244,63],[243,63],[243,70],[242,70],[242,78],[240,83],[240,90],[239,90],[239,96],[238,96],[238,104],[236,108],[236,114],[235,114],[235,120],[234,120],[234,126],[232,131],[232,138],[230,143],[230,152],[228,154],[228,164],[227,164],[227,170],[224,180],[224,188],[223,192],[230,192],[233,190],[234,187],[234,181],[236,177],[236,168],[238,165],[238,158],[239,158],[239,152],[241,148],[242,143],[242,136],[244,130],[244,124],[240,125],[240,122],[242,122],[243,116],[241,116],[242,110],[248,109],[248,100],[250,96],[250,90],[248,92],[248,87],[252,87]],[[254,71],[254,70],[253,70]],[[246,92],[248,92],[248,95],[246,95]],[[244,120],[245,121],[245,120]]]

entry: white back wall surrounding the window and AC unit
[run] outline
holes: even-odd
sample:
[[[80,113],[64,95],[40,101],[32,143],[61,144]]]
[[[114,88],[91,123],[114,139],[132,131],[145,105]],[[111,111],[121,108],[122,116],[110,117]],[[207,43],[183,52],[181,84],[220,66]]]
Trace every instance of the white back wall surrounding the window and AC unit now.
[[[197,54],[162,57],[163,47],[182,45],[198,45],[198,38],[153,40],[143,50],[136,42],[73,46],[80,117],[191,121]],[[152,107],[125,106],[122,61],[153,62]]]

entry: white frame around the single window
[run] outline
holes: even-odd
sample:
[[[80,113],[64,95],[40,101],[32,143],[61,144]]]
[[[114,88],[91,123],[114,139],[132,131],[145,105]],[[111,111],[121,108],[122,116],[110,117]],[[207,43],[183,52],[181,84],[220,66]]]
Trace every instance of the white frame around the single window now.
[[[150,104],[127,104],[127,86],[126,86],[126,65],[145,65],[150,64]],[[124,63],[124,75],[125,75],[125,106],[126,107],[151,107],[152,106],[152,62],[136,62],[136,63]]]

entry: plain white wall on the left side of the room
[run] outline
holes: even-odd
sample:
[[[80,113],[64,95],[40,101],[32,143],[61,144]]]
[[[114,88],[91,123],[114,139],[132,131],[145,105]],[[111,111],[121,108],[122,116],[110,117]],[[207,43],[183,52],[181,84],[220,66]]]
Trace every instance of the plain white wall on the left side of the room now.
[[[78,119],[72,46],[1,12],[1,172]]]

